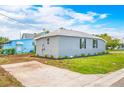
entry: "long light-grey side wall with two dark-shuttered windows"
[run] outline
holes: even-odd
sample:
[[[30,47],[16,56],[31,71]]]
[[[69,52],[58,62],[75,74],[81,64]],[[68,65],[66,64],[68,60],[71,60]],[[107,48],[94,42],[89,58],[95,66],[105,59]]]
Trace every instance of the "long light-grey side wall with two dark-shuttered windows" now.
[[[59,37],[59,56],[75,56],[80,54],[95,54],[105,51],[105,42],[98,39],[98,48],[93,48],[93,39],[86,39],[86,49],[80,49],[80,38]]]

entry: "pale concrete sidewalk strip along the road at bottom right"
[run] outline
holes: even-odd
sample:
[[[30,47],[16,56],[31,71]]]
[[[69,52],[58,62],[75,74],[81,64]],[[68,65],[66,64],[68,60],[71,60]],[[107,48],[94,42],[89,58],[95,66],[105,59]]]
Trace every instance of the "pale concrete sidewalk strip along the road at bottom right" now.
[[[105,75],[103,78],[100,78],[97,81],[90,83],[86,86],[87,87],[111,87],[111,86],[118,87],[120,84],[119,80],[123,78],[124,78],[124,69],[121,69],[111,74]],[[121,80],[121,81],[123,81],[121,82],[121,86],[124,86],[122,85],[124,84],[124,80]]]

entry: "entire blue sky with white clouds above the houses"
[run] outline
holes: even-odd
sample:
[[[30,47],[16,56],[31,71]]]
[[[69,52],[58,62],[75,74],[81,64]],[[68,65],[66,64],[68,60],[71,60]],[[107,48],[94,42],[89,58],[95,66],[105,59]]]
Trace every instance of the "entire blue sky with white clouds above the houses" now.
[[[54,31],[60,27],[123,38],[123,24],[124,6],[119,5],[0,5],[0,36],[11,40],[19,39],[23,33],[39,33],[43,28]]]

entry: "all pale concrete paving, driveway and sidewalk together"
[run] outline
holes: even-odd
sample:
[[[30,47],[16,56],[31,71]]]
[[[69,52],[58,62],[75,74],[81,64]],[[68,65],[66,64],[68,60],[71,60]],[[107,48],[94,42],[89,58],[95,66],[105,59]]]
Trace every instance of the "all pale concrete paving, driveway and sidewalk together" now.
[[[124,69],[110,74],[87,75],[37,61],[1,65],[24,86],[110,87],[124,86]]]

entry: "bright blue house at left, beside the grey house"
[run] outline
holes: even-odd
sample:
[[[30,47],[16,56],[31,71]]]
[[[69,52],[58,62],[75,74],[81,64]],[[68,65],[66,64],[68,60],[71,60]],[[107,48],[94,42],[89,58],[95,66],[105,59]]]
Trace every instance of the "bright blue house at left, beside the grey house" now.
[[[14,48],[16,53],[28,53],[34,50],[33,39],[11,40],[3,44],[2,49]]]

